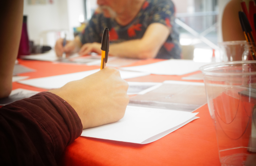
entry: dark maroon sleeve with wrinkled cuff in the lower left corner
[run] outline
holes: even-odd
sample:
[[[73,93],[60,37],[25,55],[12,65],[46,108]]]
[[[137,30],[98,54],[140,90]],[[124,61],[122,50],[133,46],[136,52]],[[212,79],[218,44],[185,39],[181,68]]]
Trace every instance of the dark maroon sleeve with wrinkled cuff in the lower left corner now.
[[[57,165],[64,148],[82,133],[75,110],[41,92],[0,108],[0,165]]]

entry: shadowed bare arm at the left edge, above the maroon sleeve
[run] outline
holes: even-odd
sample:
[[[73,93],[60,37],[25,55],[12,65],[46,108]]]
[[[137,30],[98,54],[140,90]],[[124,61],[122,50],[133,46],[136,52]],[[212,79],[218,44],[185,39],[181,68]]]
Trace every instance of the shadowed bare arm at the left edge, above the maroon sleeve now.
[[[0,1],[0,98],[12,90],[12,72],[18,55],[23,1]]]

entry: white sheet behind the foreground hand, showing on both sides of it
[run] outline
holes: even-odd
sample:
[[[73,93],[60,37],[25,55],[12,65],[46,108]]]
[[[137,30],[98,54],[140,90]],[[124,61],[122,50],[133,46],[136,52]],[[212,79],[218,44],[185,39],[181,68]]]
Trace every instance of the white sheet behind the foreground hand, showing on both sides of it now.
[[[30,85],[38,88],[56,89],[56,88],[62,87],[63,85],[65,85],[70,81],[82,79],[88,75],[96,73],[97,71],[100,71],[100,69],[82,71],[82,72],[71,73],[71,74],[56,75],[56,76],[50,76],[50,77],[34,78],[34,79],[28,79],[28,80],[18,81],[18,82],[21,84]],[[134,77],[149,75],[149,73],[120,70],[120,75],[123,79],[127,79],[127,78],[134,78]]]

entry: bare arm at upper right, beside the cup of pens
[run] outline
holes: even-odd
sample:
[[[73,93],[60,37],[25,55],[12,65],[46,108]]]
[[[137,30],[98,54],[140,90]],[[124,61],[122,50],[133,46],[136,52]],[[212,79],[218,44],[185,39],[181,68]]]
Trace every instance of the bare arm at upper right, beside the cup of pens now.
[[[240,0],[231,0],[223,12],[223,41],[244,41],[245,37],[239,22],[238,12],[241,11]]]

